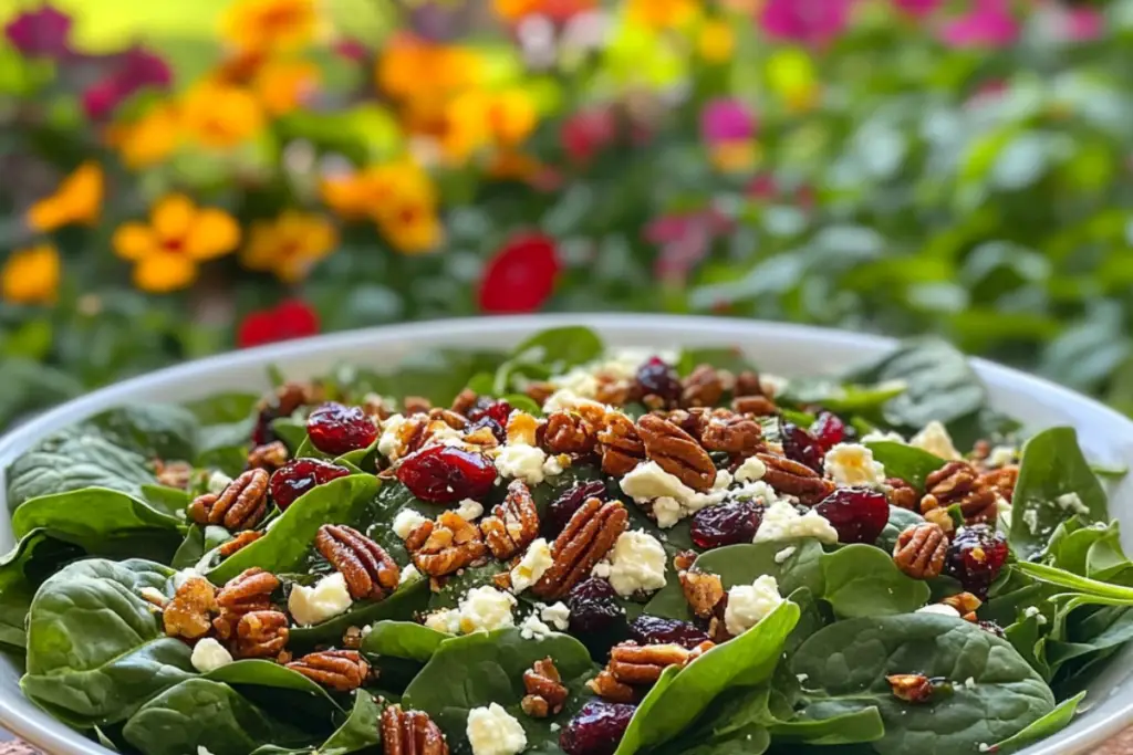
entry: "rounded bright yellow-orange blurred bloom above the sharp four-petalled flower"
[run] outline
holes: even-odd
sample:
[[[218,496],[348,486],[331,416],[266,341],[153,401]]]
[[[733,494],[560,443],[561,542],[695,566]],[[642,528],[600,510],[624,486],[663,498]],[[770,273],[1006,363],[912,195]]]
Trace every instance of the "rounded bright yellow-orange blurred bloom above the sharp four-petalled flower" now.
[[[259,103],[247,91],[214,80],[194,85],[182,103],[185,130],[205,147],[232,147],[264,126]]]

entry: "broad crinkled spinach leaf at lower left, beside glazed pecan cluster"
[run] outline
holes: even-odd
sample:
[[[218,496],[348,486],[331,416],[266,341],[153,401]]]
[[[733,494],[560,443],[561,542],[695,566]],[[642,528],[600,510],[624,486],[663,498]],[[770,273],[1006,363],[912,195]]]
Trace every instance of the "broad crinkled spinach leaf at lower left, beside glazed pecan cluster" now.
[[[113,723],[193,676],[189,646],[167,637],[138,595],[164,592],[172,574],[150,561],[92,559],[44,582],[28,614],[24,694],[74,726]]]

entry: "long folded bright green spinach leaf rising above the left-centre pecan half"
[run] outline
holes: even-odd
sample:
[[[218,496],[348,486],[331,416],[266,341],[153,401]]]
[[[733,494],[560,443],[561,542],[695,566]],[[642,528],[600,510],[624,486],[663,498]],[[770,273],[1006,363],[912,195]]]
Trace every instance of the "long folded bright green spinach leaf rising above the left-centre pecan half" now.
[[[312,488],[288,506],[263,538],[208,572],[208,580],[223,584],[253,566],[273,573],[293,572],[310,549],[320,526],[352,523],[377,489],[377,478],[372,474],[351,474]]]

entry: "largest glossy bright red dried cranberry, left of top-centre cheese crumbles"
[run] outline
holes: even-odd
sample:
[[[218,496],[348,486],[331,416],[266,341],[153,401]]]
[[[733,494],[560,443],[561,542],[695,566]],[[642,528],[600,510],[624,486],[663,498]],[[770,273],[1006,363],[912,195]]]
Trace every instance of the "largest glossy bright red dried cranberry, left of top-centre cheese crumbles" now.
[[[474,451],[428,446],[401,462],[398,479],[421,500],[452,504],[487,495],[496,471],[487,456]]]

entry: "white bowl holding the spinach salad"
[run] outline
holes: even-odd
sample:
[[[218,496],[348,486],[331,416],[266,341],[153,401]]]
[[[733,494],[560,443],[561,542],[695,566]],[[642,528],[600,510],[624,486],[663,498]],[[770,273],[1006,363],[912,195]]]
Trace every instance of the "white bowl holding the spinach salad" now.
[[[586,325],[614,346],[739,346],[760,369],[785,376],[833,372],[892,349],[887,338],[819,328],[736,319],[646,315],[530,316],[441,320],[295,341],[213,357],[96,391],[16,429],[0,440],[0,477],[23,451],[45,435],[105,409],[143,401],[189,401],[222,391],[269,388],[265,367],[276,364],[292,378],[325,374],[343,361],[392,368],[407,354],[428,348],[506,350],[547,327]],[[1133,423],[1101,404],[1036,377],[972,360],[993,405],[1034,431],[1054,424],[1079,430],[1091,461],[1133,466]],[[2,480],[0,480],[2,483]],[[6,511],[0,484],[0,511]],[[1125,548],[1133,547],[1133,481],[1114,491],[1111,514],[1121,521]],[[8,517],[0,517],[0,547],[11,548]],[[1088,712],[1024,755],[1085,753],[1133,723],[1133,694],[1122,684],[1133,671],[1133,647],[1115,655],[1091,686]],[[0,724],[52,755],[107,755],[109,750],[71,731],[24,698],[19,669],[0,657]]]

